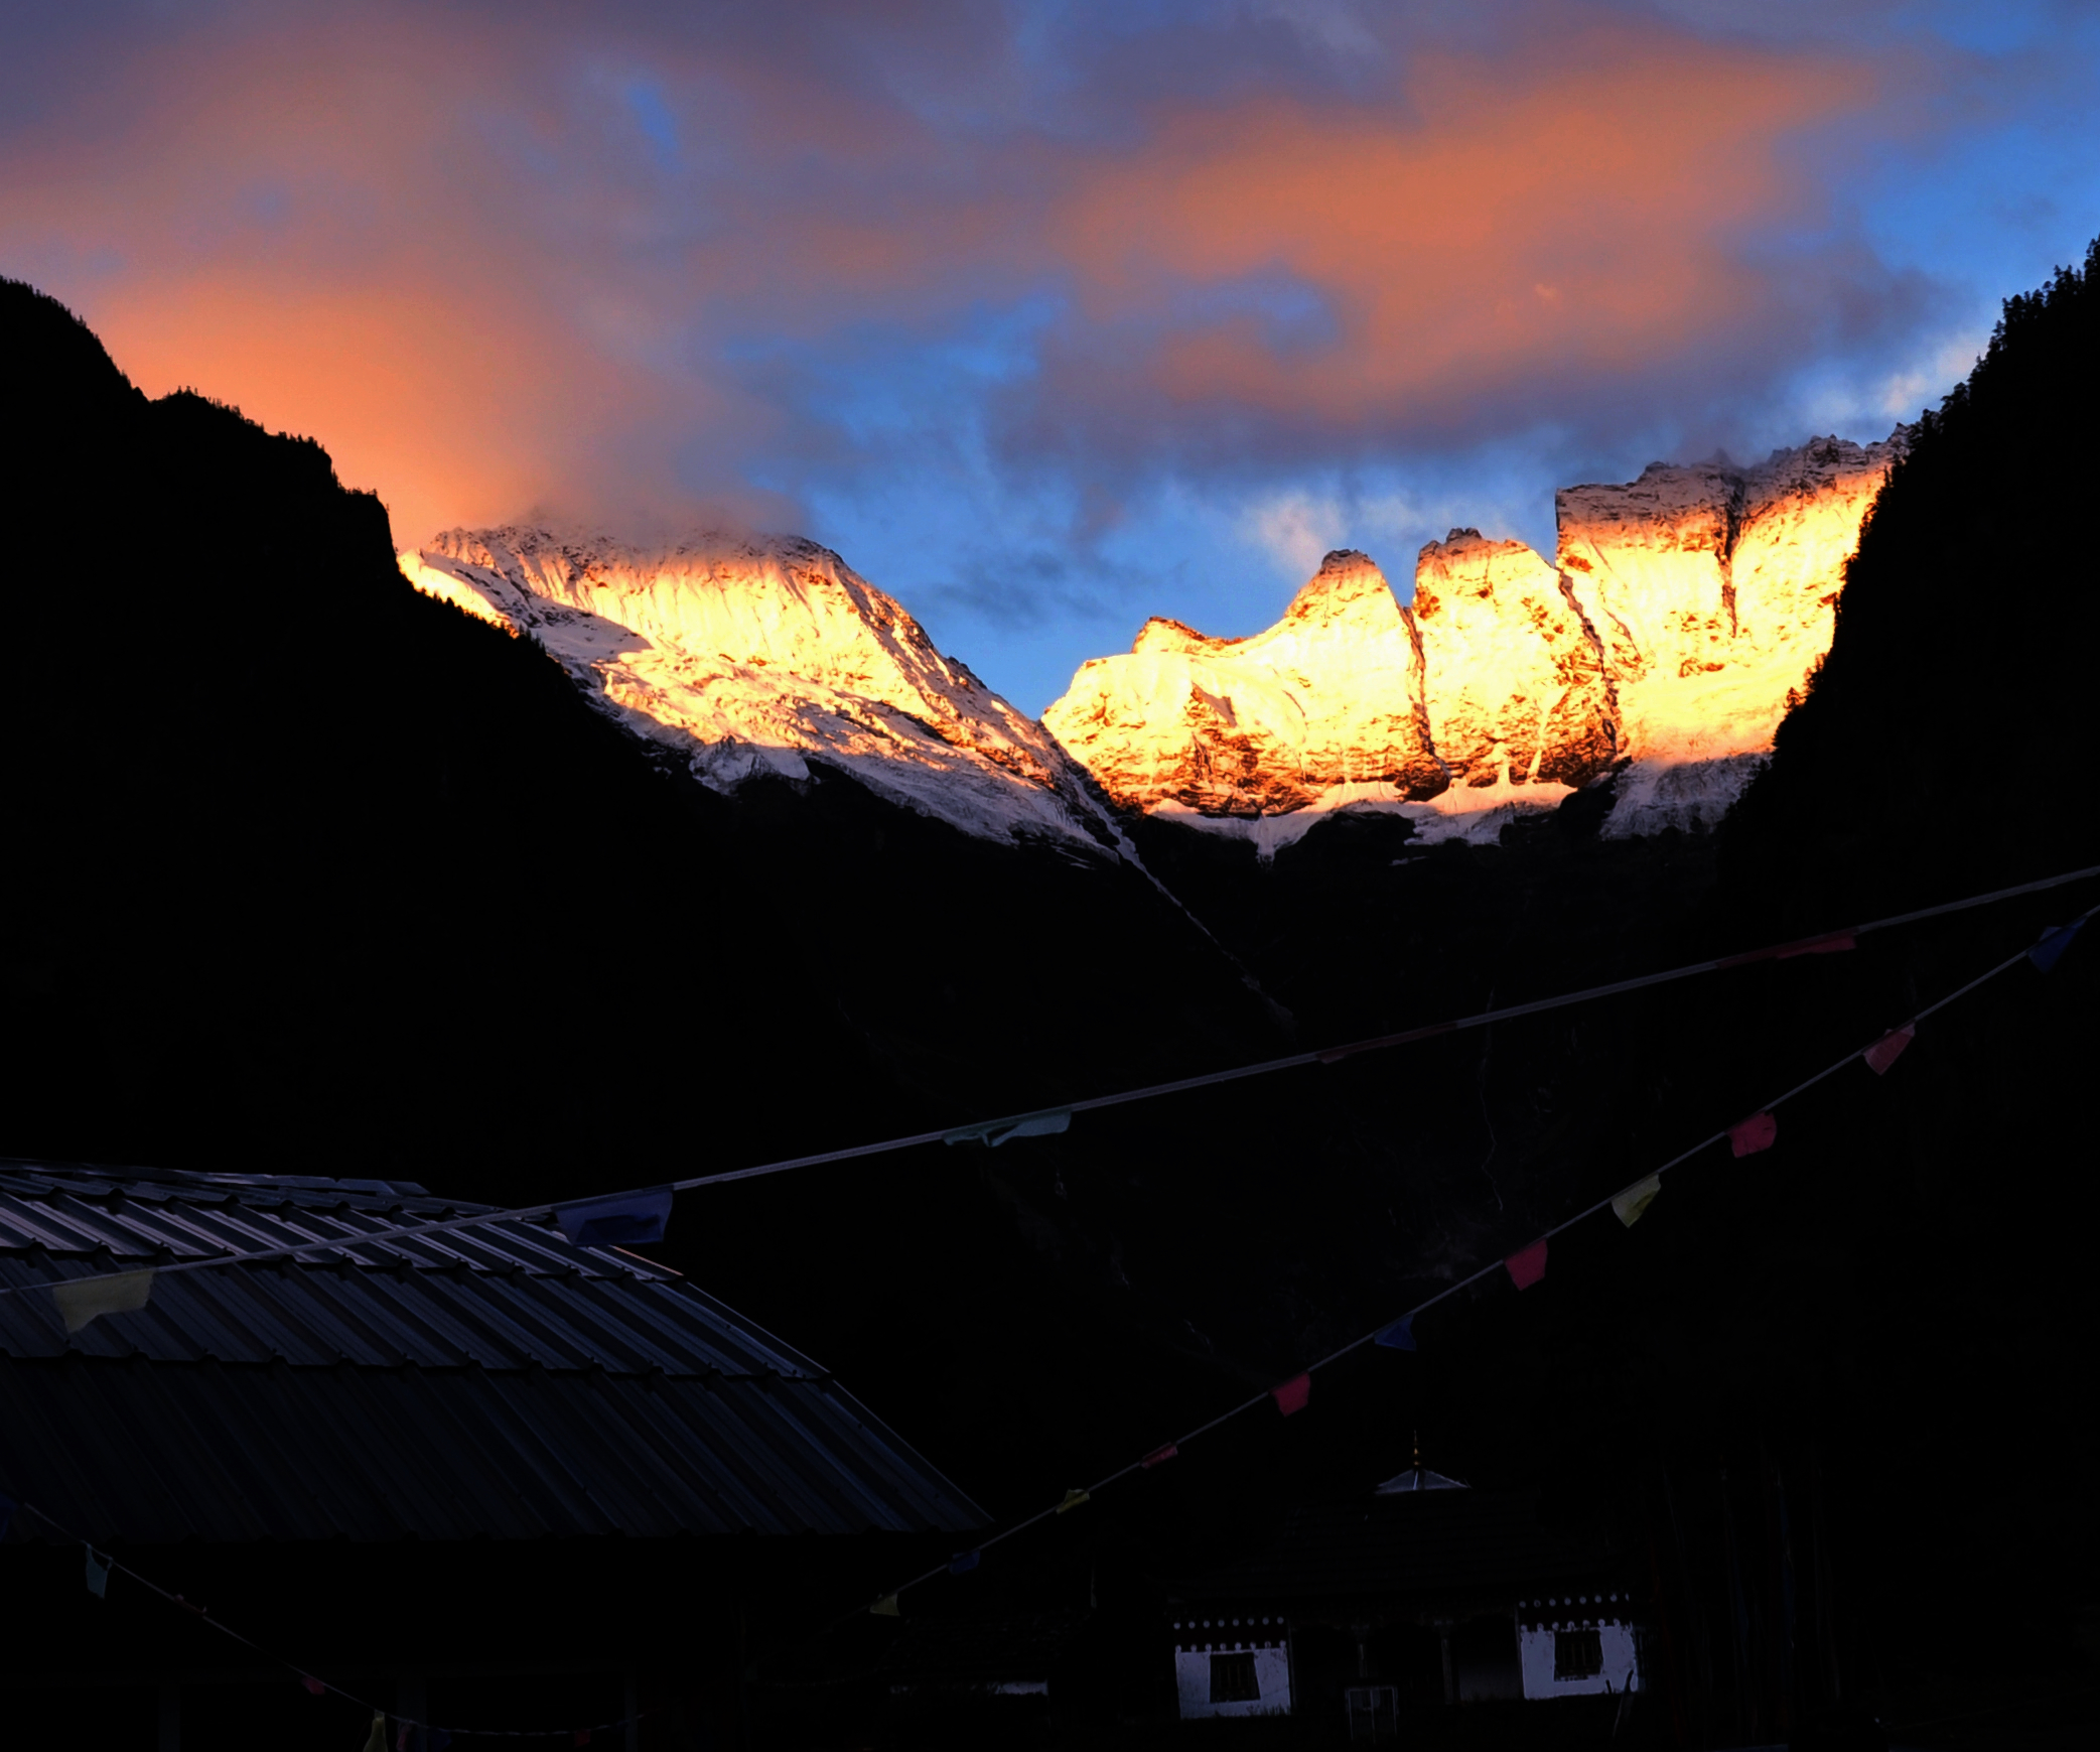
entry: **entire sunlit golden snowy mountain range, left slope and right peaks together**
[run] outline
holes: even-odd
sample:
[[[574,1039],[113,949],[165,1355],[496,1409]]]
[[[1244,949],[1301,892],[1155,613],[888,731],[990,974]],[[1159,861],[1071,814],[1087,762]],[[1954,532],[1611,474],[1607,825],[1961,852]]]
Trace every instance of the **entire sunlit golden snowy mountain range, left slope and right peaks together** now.
[[[1134,857],[1117,811],[1140,811],[1266,857],[1340,809],[1487,842],[1617,775],[1604,832],[1623,836],[1714,826],[1749,781],[1829,649],[1903,441],[1567,487],[1554,563],[1453,529],[1418,555],[1405,605],[1369,555],[1338,550],[1247,639],[1149,620],[1042,723],[800,538],[638,550],[452,529],[401,569],[538,639],[718,792],[815,760],[981,838]]]

